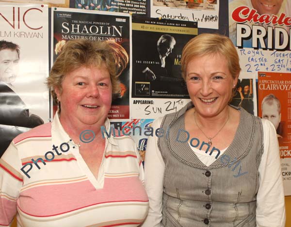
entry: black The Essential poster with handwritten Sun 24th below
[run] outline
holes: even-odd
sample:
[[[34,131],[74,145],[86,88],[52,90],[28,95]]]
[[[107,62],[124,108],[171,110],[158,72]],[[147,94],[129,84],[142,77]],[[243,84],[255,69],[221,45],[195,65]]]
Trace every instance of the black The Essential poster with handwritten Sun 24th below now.
[[[182,100],[189,99],[181,74],[181,54],[195,35],[197,23],[133,17],[130,101],[133,118],[163,116],[179,110]]]

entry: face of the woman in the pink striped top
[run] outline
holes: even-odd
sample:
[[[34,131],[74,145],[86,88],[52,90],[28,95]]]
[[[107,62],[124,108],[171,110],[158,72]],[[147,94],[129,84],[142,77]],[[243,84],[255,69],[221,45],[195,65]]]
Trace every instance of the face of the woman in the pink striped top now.
[[[111,107],[112,84],[104,63],[80,68],[65,75],[62,91],[55,89],[61,102],[60,118],[78,126],[103,124]]]

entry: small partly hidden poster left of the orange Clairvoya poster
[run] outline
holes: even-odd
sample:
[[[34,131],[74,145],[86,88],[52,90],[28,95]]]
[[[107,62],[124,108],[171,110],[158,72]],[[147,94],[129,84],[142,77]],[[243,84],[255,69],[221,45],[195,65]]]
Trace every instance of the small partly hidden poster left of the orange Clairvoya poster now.
[[[237,82],[234,97],[230,104],[238,107],[242,107],[250,114],[257,115],[257,97],[256,92],[256,76],[246,75],[241,73]]]

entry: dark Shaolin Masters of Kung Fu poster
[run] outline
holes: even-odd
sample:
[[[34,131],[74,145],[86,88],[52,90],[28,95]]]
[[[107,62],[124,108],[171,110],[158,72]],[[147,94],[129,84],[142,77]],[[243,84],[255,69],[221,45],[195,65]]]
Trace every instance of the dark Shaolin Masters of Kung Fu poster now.
[[[131,16],[93,10],[54,8],[52,9],[51,57],[52,64],[63,45],[71,39],[116,42],[130,56]],[[51,64],[51,65],[52,65]],[[120,96],[113,99],[109,119],[129,119],[130,60],[119,76]]]

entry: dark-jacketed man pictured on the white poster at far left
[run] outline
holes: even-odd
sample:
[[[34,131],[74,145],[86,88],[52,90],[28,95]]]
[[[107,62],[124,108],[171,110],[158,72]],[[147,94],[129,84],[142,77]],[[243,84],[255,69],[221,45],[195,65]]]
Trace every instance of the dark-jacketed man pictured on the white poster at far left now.
[[[19,73],[20,47],[12,42],[0,41],[0,157],[18,134],[30,130],[44,121],[30,113],[15,92],[14,82]]]

